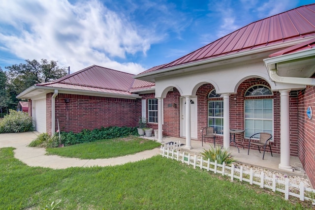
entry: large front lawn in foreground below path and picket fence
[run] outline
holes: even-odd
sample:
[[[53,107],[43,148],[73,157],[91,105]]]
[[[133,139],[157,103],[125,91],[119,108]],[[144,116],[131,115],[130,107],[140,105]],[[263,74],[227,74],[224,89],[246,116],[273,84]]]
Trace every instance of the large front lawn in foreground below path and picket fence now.
[[[53,170],[29,167],[14,158],[13,150],[0,149],[0,209],[312,208],[310,203],[285,201],[283,194],[230,182],[161,156],[119,166]]]

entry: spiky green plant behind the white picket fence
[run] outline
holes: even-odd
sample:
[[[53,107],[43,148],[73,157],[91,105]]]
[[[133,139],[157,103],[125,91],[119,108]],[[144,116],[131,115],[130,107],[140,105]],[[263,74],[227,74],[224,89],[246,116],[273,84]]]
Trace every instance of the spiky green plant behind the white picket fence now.
[[[214,148],[212,145],[210,145],[209,150],[203,149],[203,152],[201,152],[201,155],[206,158],[210,159],[211,162],[215,162],[217,160],[217,163],[230,165],[231,163],[235,162],[232,158],[232,155],[227,150],[221,149],[221,147]]]

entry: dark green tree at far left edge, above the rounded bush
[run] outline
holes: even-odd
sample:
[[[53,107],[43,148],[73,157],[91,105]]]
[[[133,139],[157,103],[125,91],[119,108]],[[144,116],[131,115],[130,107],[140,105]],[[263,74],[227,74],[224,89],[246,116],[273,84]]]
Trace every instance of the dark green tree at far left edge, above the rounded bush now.
[[[6,73],[0,67],[0,113],[8,113],[14,102],[8,91],[8,81]]]

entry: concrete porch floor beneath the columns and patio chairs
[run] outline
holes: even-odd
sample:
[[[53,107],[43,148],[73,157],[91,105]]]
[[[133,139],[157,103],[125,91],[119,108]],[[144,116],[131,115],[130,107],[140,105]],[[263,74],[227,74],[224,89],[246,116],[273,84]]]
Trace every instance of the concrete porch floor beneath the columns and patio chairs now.
[[[207,142],[207,143],[204,143],[203,147],[202,147],[201,141],[191,139],[192,149],[187,149],[187,148],[185,148],[186,147],[186,139],[176,138],[176,137],[164,137],[163,136],[163,144],[167,144],[169,142],[176,142],[176,141],[180,141],[182,144],[185,144],[184,146],[182,146],[180,148],[181,150],[187,150],[190,153],[196,153],[196,154],[200,154],[200,152],[202,152],[203,149],[206,149],[206,150],[210,149],[210,144],[211,144],[211,143]],[[211,144],[211,145],[213,146],[213,144]],[[216,147],[221,147],[221,145],[216,144]],[[268,169],[270,171],[279,172],[279,173],[286,174],[289,176],[299,176],[299,177],[304,177],[304,178],[308,179],[307,175],[305,173],[303,175],[303,173],[300,170],[300,169],[303,169],[303,166],[302,166],[301,161],[298,157],[290,156],[290,164],[293,168],[293,172],[290,172],[290,171],[285,171],[285,170],[279,169],[280,154],[273,153],[273,156],[271,156],[270,151],[267,150],[267,148],[266,148],[264,159],[262,159],[263,150],[261,150],[261,153],[259,153],[258,150],[250,150],[250,154],[248,155],[247,154],[248,153],[247,147],[245,147],[245,149],[243,149],[241,146],[238,146],[238,148],[240,149],[240,152],[238,152],[238,149],[236,147],[234,147],[233,143],[231,143],[229,150],[230,150],[233,158],[236,159],[237,162],[239,162],[239,163],[243,163],[246,165],[252,165],[252,166],[260,167],[260,168],[265,168],[265,169]],[[304,169],[303,169],[303,171],[304,171]]]

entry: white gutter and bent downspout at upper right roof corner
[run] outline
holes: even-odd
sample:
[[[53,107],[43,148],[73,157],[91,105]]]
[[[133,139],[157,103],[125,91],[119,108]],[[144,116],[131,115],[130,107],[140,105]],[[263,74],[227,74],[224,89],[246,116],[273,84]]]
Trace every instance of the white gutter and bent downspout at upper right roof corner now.
[[[281,62],[294,62],[295,60],[311,59],[314,58],[315,48],[296,53],[290,53],[283,56],[277,56],[274,58],[264,59],[264,63],[267,67],[270,79],[278,83],[296,84],[296,85],[310,85],[315,86],[315,78],[306,77],[284,77],[277,73],[277,64]]]

